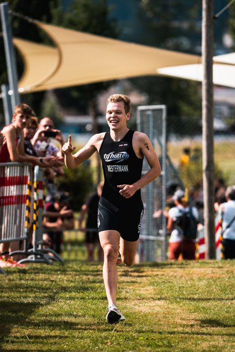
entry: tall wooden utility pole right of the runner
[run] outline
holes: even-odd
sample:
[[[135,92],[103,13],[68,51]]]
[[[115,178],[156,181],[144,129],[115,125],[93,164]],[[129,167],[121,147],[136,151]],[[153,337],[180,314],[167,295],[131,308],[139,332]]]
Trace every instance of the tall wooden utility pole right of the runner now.
[[[213,130],[213,0],[202,0],[202,164],[206,258],[215,258]]]

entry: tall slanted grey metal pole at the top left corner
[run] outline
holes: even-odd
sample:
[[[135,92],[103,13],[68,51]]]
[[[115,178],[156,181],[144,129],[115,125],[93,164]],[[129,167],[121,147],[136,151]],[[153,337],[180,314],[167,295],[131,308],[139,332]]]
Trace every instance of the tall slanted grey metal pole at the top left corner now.
[[[15,51],[12,42],[12,27],[9,16],[9,7],[8,3],[2,3],[0,5],[1,9],[1,21],[2,21],[2,29],[3,29],[3,37],[4,37],[4,47],[5,54],[7,60],[7,69],[8,69],[8,80],[10,91],[12,91],[11,95],[11,104],[12,111],[14,111],[15,106],[20,104],[20,97],[18,94],[18,83],[17,83],[17,69],[16,69],[16,58]]]

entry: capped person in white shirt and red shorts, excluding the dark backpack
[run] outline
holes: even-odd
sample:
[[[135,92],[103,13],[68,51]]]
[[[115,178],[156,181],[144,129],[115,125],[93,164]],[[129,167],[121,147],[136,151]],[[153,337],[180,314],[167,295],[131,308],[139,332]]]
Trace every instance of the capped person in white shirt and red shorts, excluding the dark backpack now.
[[[189,212],[188,200],[183,190],[177,190],[174,193],[173,200],[175,207],[169,210],[167,230],[171,233],[169,239],[169,258],[179,260],[195,259],[196,244],[192,239],[184,238],[183,231],[179,226],[174,224],[182,212]],[[199,222],[199,213],[196,207],[192,207],[192,214]]]

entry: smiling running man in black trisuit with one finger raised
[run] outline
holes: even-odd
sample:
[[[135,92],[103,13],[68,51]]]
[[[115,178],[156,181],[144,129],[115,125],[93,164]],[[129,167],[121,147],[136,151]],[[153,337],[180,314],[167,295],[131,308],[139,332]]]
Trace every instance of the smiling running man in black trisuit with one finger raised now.
[[[62,147],[65,165],[74,168],[98,151],[103,164],[104,187],[98,208],[98,231],[104,250],[103,278],[108,299],[107,322],[125,320],[116,306],[117,258],[131,266],[137,249],[143,204],[140,189],[161,173],[158,156],[145,133],[127,127],[130,99],[114,94],[107,100],[110,131],[95,134],[74,155],[71,136]],[[143,157],[150,169],[141,177]]]

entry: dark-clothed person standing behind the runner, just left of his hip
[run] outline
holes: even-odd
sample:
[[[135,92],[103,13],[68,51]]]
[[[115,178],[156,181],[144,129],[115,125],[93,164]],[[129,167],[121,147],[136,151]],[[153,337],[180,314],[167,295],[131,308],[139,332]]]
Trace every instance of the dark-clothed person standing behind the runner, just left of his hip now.
[[[98,261],[103,261],[103,249],[100,245],[98,227],[97,227],[97,217],[98,217],[98,205],[100,196],[103,190],[103,182],[100,182],[97,186],[97,191],[92,193],[86,203],[82,206],[82,210],[79,218],[79,228],[82,228],[82,223],[84,221],[86,213],[88,214],[86,220],[86,229],[95,229],[95,231],[87,230],[86,231],[86,245],[88,250],[88,261],[94,261],[94,250],[95,245],[98,246]]]

